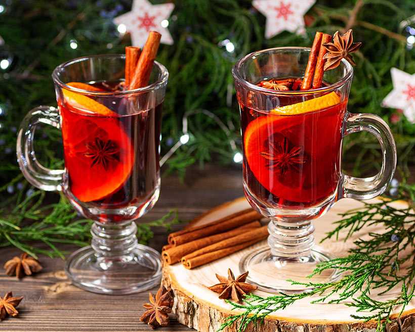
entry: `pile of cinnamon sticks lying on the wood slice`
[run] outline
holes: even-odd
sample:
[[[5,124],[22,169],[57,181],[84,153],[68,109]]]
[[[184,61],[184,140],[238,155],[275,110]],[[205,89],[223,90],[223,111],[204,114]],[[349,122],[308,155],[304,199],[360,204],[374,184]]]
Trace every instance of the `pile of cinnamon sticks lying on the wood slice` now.
[[[265,240],[267,226],[253,209],[243,210],[220,220],[169,235],[169,245],[161,253],[166,264],[182,262],[187,269],[212,262]]]

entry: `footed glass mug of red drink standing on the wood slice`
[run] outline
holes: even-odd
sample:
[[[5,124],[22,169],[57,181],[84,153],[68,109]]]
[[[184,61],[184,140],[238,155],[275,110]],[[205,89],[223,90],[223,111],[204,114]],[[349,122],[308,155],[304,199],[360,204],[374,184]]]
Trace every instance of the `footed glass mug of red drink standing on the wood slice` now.
[[[313,247],[312,220],[342,198],[366,200],[382,194],[396,165],[396,147],[388,125],[373,114],[351,114],[347,100],[352,66],[342,60],[324,73],[313,90],[270,90],[263,80],[292,78],[301,85],[310,49],[275,48],[247,55],[232,69],[240,109],[243,187],[252,207],[271,221],[268,246],[240,261],[250,282],[271,292],[305,291],[287,279],[308,282],[318,263],[334,258]],[[284,107],[285,106],[285,107]],[[343,137],[357,131],[374,134],[382,148],[382,168],[372,177],[341,171]],[[313,282],[340,277],[337,270]]]

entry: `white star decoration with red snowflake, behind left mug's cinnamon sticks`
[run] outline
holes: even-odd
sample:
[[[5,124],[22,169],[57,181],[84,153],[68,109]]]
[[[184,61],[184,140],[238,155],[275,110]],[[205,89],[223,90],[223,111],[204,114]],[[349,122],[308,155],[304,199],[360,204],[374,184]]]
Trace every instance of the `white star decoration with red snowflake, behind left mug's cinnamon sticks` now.
[[[114,23],[126,26],[133,46],[143,47],[149,31],[161,33],[160,42],[171,45],[173,38],[166,27],[173,9],[173,4],[152,5],[147,0],[134,0],[131,12],[115,17]]]

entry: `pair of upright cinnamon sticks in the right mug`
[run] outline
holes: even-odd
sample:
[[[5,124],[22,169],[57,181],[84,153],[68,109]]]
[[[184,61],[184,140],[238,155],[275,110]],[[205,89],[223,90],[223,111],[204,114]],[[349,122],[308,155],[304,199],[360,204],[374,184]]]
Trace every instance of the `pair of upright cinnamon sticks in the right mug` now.
[[[324,55],[327,50],[322,46],[326,42],[330,42],[332,37],[327,33],[317,31],[314,37],[313,46],[311,47],[310,56],[306,67],[302,90],[309,90],[311,88],[317,89],[321,87],[324,75]]]

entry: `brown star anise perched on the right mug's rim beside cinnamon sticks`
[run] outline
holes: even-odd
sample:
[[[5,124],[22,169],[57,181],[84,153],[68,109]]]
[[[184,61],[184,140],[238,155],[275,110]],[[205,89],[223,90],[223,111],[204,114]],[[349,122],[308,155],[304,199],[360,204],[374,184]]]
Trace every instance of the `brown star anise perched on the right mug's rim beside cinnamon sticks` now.
[[[361,42],[353,42],[352,29],[347,31],[342,37],[339,36],[339,31],[336,31],[333,41],[323,44],[327,53],[323,59],[327,61],[324,64],[324,70],[334,69],[340,65],[342,59],[346,59],[352,65],[356,66],[350,53],[356,52],[361,46]]]

